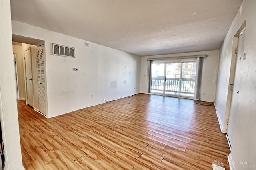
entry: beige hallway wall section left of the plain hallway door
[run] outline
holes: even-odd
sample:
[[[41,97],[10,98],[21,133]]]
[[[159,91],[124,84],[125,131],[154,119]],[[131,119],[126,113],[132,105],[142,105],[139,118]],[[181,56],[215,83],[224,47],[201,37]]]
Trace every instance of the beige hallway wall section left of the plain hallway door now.
[[[19,100],[25,100],[25,81],[24,81],[24,67],[22,58],[22,45],[12,45],[13,53],[16,54],[16,64],[18,73],[18,89],[19,89]]]

